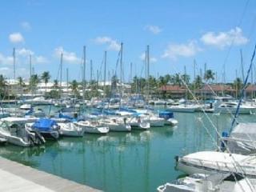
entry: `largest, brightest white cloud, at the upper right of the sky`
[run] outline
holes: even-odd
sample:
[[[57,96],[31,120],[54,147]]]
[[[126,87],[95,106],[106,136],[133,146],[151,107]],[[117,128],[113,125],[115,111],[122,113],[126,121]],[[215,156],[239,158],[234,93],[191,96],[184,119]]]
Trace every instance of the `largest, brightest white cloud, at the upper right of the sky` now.
[[[225,48],[230,46],[232,43],[235,46],[241,46],[249,42],[248,38],[242,34],[242,29],[235,27],[226,32],[207,32],[202,35],[201,41],[208,46],[216,46],[218,48]]]

